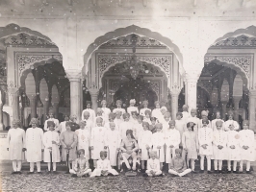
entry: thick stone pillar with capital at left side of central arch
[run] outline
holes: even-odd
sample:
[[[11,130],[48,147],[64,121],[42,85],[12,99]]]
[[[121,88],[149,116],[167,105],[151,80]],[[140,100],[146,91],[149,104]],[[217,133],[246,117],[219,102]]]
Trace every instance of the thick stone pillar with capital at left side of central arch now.
[[[81,118],[81,70],[67,69],[66,76],[70,83],[70,115],[76,115],[77,120]]]

